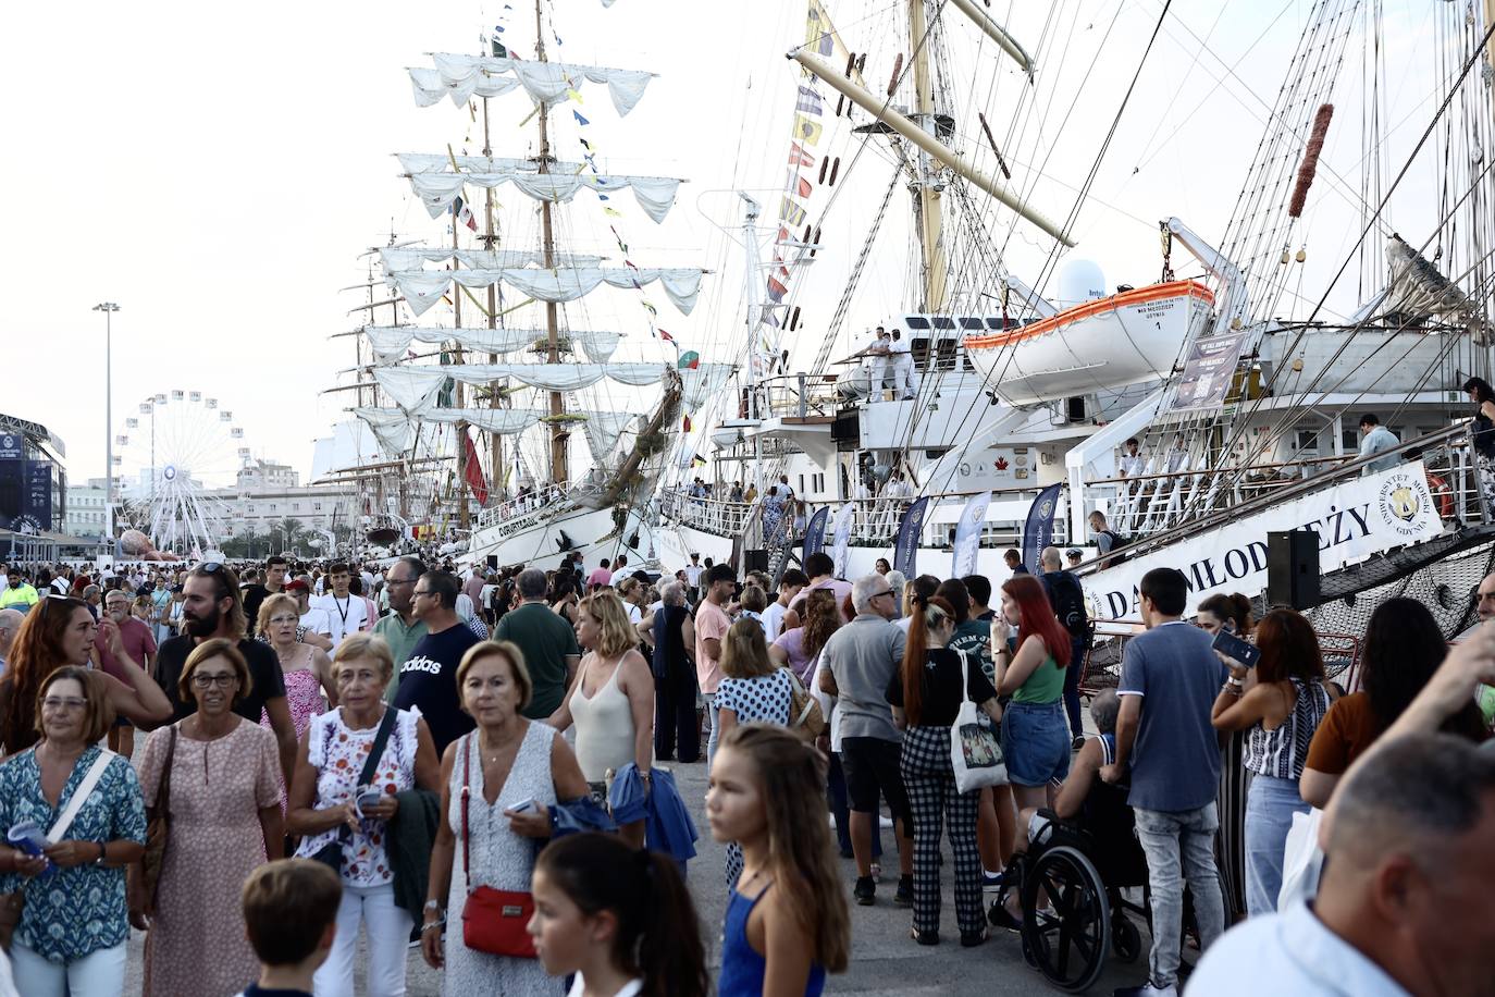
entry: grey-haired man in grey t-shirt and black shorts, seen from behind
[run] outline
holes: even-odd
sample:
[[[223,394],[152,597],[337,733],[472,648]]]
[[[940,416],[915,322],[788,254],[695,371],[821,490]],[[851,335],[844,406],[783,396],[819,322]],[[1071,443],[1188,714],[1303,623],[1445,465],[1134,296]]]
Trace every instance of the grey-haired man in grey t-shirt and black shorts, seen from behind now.
[[[903,662],[906,635],[890,620],[897,614],[893,589],[881,574],[852,584],[857,616],[825,641],[821,652],[821,691],[836,697],[840,716],[840,759],[846,770],[851,809],[851,851],[857,856],[857,903],[876,897],[872,879],[872,827],[878,819],[878,791],[888,800],[898,839],[898,891],[894,903],[913,903],[913,837],[909,800],[898,771],[901,735],[893,725],[887,689]]]

